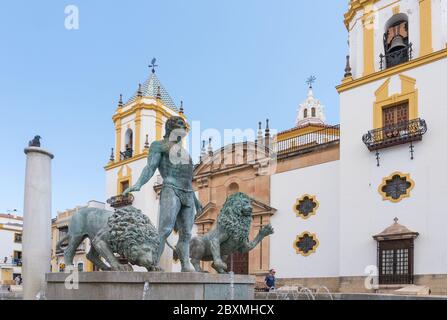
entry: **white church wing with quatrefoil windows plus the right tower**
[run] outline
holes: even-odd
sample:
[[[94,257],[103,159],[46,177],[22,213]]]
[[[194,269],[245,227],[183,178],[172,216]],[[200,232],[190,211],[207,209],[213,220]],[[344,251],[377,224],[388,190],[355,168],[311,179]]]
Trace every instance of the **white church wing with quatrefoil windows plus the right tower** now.
[[[271,177],[270,265],[341,291],[369,291],[377,267],[379,288],[446,294],[447,1],[351,0],[345,23],[339,159]]]

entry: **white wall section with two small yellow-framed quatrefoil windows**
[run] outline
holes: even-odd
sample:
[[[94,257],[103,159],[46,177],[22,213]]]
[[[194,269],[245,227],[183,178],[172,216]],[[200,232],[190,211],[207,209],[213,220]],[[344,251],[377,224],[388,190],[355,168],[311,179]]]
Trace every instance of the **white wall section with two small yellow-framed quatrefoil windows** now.
[[[271,206],[278,211],[271,222],[270,265],[281,278],[338,276],[338,186],[339,162],[276,174],[271,177]],[[304,220],[293,206],[303,195],[315,195],[320,206],[315,216]],[[296,253],[296,237],[309,231],[320,242],[316,253],[303,257]]]

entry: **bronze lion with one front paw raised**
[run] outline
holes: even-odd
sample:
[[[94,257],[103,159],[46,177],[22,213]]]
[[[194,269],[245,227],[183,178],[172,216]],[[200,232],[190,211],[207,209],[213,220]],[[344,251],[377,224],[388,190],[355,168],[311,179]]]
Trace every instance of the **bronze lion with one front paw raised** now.
[[[251,198],[244,193],[228,197],[217,219],[216,226],[204,236],[191,239],[191,264],[197,272],[203,272],[201,261],[212,261],[218,273],[228,270],[224,260],[236,252],[253,250],[265,237],[273,234],[269,224],[262,228],[253,241],[249,241],[253,207]]]

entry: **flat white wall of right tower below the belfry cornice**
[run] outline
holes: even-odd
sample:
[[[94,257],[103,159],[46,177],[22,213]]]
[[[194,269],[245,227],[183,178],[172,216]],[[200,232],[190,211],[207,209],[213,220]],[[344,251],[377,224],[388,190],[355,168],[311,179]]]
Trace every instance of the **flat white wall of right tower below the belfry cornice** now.
[[[340,273],[364,275],[365,267],[376,265],[376,242],[380,233],[398,217],[400,223],[419,232],[415,241],[415,273],[447,273],[447,216],[442,213],[447,192],[445,158],[447,141],[447,91],[443,75],[447,59],[404,72],[416,79],[419,117],[427,121],[428,132],[415,143],[415,159],[409,145],[380,151],[380,167],[375,154],[362,142],[373,128],[374,92],[386,79],[341,93],[340,155]],[[390,83],[390,95],[400,91],[398,75]],[[382,178],[395,171],[409,173],[415,181],[411,197],[400,203],[383,201],[378,192]]]

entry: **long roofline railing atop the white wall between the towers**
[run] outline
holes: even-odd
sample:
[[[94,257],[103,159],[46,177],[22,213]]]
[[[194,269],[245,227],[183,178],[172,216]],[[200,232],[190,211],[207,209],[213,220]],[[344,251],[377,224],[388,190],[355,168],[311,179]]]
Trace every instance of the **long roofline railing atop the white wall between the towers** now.
[[[273,144],[273,151],[281,156],[294,152],[305,152],[338,141],[340,141],[340,125],[278,141]]]

